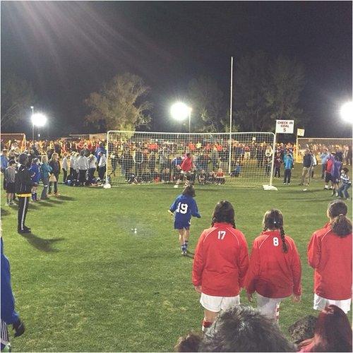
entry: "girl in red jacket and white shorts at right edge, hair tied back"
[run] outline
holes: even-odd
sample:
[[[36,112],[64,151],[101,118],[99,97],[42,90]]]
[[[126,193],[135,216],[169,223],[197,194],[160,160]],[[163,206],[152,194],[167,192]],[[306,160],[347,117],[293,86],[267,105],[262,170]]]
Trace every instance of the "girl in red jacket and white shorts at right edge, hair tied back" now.
[[[347,313],[352,298],[352,222],[342,200],[328,205],[328,222],[313,233],[308,246],[314,272],[313,309],[333,304]]]

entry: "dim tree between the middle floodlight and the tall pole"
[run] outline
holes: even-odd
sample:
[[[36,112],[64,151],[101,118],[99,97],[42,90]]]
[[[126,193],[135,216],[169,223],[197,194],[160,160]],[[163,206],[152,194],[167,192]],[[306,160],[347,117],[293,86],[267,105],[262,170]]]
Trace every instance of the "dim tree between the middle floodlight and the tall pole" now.
[[[193,131],[223,131],[227,106],[217,82],[208,76],[189,82]]]

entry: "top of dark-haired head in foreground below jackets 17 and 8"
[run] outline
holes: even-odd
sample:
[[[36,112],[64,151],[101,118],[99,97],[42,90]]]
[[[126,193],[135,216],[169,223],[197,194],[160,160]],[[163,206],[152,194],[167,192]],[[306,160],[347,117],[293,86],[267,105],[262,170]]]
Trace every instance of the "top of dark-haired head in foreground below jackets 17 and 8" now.
[[[275,321],[251,306],[222,311],[203,336],[199,352],[297,352]]]

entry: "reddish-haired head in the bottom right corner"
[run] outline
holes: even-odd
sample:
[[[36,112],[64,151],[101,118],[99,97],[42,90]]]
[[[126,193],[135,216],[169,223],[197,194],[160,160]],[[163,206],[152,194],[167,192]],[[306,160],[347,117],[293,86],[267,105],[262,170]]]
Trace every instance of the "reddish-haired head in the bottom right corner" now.
[[[352,328],[338,306],[326,306],[318,316],[314,335],[301,342],[299,352],[352,352]]]

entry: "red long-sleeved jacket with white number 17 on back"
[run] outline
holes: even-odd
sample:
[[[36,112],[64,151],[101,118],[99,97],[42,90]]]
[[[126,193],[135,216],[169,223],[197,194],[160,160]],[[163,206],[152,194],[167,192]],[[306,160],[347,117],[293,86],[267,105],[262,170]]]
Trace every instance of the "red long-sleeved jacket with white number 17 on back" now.
[[[249,266],[244,234],[229,223],[215,223],[198,239],[193,260],[193,285],[204,294],[235,297]]]

